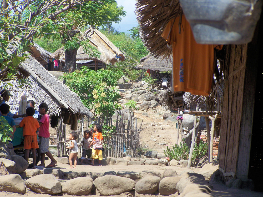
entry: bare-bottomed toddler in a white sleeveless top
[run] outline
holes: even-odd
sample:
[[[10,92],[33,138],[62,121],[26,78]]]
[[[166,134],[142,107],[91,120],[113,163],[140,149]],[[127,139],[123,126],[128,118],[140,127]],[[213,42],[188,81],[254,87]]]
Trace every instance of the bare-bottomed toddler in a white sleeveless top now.
[[[70,154],[69,154],[69,165],[70,168],[72,167],[72,159],[74,159],[74,168],[77,168],[77,156],[78,156],[78,144],[76,142],[76,139],[78,139],[78,134],[76,132],[72,132],[69,134],[70,146],[67,146],[66,148],[69,148]]]

